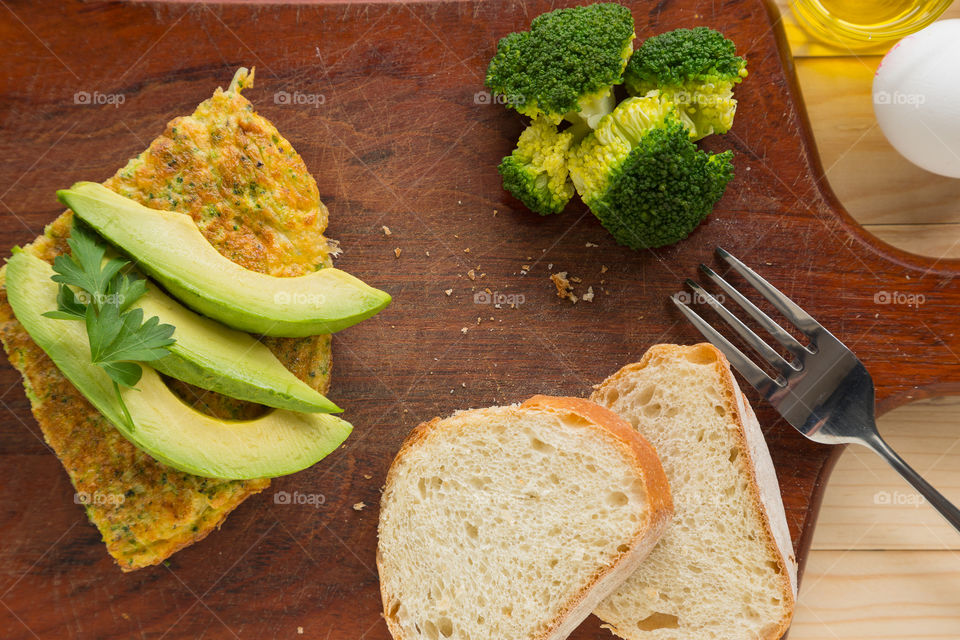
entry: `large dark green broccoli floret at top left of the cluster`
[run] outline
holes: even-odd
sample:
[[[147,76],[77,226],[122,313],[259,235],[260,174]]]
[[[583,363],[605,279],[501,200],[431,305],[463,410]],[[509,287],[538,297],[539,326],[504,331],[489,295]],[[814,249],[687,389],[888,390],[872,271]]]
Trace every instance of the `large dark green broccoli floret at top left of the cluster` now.
[[[531,118],[595,126],[613,109],[635,36],[633,16],[619,4],[551,11],[500,40],[486,85]]]

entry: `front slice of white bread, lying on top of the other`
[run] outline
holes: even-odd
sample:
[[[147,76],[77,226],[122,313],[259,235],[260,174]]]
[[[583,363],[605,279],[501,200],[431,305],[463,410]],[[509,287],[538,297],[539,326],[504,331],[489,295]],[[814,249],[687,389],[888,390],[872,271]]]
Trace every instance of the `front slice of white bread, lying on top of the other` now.
[[[582,398],[421,424],[380,506],[396,640],[561,640],[640,564],[672,515],[656,451]]]

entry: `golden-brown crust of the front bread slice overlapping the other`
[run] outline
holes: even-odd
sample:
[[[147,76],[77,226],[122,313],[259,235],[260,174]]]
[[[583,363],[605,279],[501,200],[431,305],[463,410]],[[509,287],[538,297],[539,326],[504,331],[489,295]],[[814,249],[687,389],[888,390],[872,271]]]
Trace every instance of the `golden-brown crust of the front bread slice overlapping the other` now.
[[[634,468],[644,483],[648,509],[644,522],[638,525],[636,535],[632,539],[630,550],[624,552],[617,560],[597,572],[561,609],[557,616],[546,625],[546,630],[532,636],[530,640],[563,640],[593,611],[594,608],[612,593],[636,568],[643,559],[653,550],[657,541],[666,531],[670,519],[673,517],[673,500],[670,495],[669,483],[656,449],[641,434],[633,429],[621,417],[594,402],[583,398],[568,398],[537,395],[516,406],[519,410],[548,411],[557,414],[572,414],[580,420],[596,426],[600,432],[613,440],[633,460]],[[471,410],[471,411],[483,411]],[[458,418],[470,411],[456,414]],[[400,445],[384,487],[383,499],[390,495],[394,476],[400,468],[400,463],[407,453],[423,443],[435,431],[442,428],[444,420],[433,418],[421,423],[404,439]],[[379,545],[377,546],[377,571],[383,569],[383,557]],[[396,624],[388,611],[389,597],[384,581],[380,581],[380,597],[384,607],[384,620],[387,629],[395,640],[413,640],[403,634],[403,630]]]

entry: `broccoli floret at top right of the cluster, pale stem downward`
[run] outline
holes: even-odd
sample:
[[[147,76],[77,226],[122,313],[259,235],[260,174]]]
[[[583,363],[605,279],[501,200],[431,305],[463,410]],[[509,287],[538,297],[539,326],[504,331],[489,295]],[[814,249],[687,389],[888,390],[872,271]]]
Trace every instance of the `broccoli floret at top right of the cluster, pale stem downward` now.
[[[737,110],[733,85],[746,75],[747,61],[733,42],[707,27],[648,38],[624,72],[631,94],[659,89],[682,109],[693,122],[694,140],[730,130]]]

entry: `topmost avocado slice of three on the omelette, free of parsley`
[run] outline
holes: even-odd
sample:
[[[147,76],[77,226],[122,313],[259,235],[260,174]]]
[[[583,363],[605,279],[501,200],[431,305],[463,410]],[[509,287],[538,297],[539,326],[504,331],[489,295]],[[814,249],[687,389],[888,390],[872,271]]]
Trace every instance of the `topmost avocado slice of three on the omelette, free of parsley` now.
[[[225,258],[190,216],[150,209],[93,182],[57,192],[100,235],[188,307],[242,331],[299,338],[369,318],[390,296],[339,269],[277,278]]]

